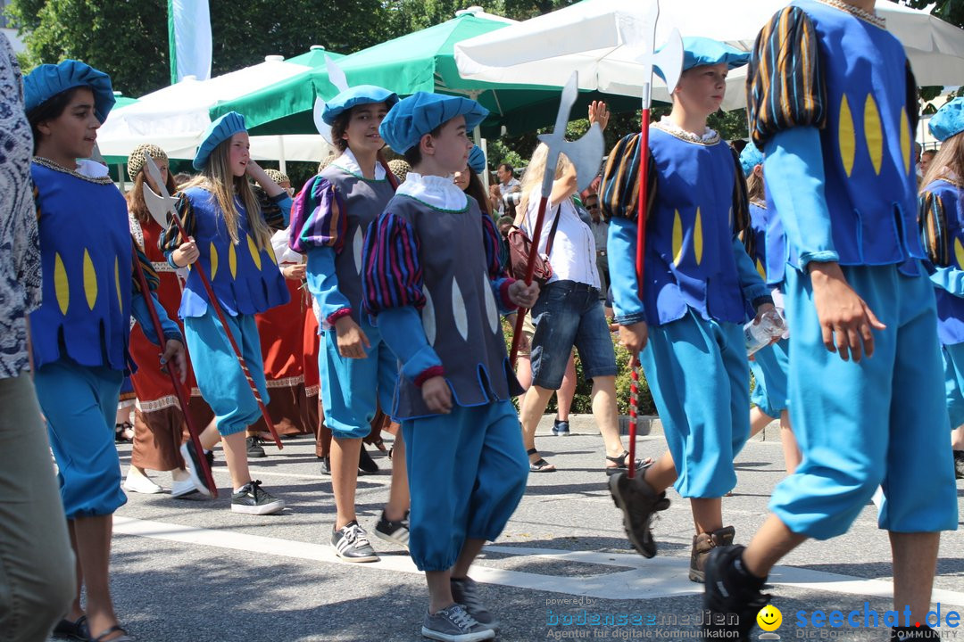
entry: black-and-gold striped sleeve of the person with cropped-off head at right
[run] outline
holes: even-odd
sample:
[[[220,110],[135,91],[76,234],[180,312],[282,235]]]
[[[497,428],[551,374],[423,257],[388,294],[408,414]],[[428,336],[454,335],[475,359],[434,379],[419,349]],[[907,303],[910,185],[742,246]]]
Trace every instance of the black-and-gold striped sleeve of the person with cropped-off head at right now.
[[[757,36],[746,74],[746,115],[758,147],[777,132],[826,124],[817,31],[802,9],[776,13]]]

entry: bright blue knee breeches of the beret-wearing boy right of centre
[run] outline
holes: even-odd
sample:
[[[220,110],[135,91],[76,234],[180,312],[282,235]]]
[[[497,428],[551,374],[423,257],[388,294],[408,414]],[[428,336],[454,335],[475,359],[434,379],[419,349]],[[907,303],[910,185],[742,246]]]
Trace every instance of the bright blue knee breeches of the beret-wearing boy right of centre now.
[[[639,353],[684,498],[723,497],[736,486],[733,460],[750,437],[750,370],[743,328],[682,319],[652,325]]]

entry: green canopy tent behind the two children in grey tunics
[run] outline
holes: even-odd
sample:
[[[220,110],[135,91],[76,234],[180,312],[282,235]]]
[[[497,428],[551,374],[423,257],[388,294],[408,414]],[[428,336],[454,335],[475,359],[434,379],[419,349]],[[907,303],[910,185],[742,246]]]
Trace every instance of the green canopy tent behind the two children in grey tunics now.
[[[378,85],[401,95],[415,91],[465,95],[490,111],[481,134],[489,137],[520,134],[550,125],[555,120],[559,90],[536,85],[505,85],[463,79],[455,64],[454,45],[464,39],[515,24],[497,15],[477,11],[457,13],[442,24],[376,44],[338,61],[349,85]],[[324,66],[289,78],[239,100],[219,103],[211,118],[231,110],[245,115],[253,135],[314,132],[312,108],[316,97],[334,97],[335,86]],[[614,112],[639,109],[638,98],[580,92],[576,112],[592,100],[605,100]]]

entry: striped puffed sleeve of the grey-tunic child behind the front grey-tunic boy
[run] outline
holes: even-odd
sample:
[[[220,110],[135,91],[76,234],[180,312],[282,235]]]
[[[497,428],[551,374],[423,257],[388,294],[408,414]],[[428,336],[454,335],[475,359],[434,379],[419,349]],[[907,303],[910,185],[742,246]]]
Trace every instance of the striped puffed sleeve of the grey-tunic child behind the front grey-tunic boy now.
[[[328,179],[312,178],[291,208],[288,245],[296,252],[309,247],[334,247],[340,252],[348,231],[348,217],[341,195]]]

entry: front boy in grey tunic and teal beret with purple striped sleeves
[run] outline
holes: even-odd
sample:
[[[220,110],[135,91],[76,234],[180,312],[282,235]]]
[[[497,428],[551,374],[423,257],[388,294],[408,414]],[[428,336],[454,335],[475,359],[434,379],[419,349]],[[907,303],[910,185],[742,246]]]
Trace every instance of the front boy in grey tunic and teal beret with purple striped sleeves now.
[[[488,114],[466,98],[417,92],[382,123],[412,166],[365,244],[364,303],[402,372],[391,415],[402,424],[412,491],[410,551],[430,603],[422,634],[495,637],[469,565],[522,499],[527,462],[498,310],[530,307],[538,286],[502,277],[492,217],[453,183],[467,131]],[[496,300],[498,303],[496,303]]]

